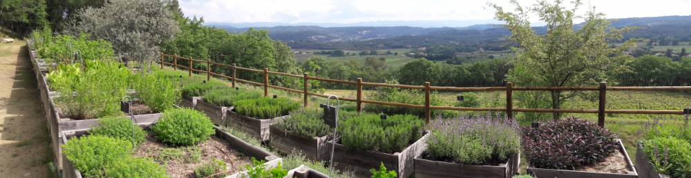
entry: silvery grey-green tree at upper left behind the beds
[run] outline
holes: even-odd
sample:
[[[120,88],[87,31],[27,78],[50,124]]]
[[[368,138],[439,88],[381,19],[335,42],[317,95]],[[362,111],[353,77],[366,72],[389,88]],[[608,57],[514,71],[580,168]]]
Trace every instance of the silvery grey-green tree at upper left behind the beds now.
[[[142,61],[155,59],[159,46],[175,37],[178,23],[165,0],[108,1],[101,8],[79,10],[70,32],[86,32],[113,43],[118,55]]]

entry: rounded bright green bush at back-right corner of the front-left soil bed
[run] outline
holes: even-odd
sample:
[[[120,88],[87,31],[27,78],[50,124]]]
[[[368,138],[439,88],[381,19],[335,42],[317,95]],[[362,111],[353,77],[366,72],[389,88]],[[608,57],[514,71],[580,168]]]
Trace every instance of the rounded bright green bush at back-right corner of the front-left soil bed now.
[[[199,144],[215,133],[209,117],[189,108],[166,110],[151,131],[159,141],[176,146]]]

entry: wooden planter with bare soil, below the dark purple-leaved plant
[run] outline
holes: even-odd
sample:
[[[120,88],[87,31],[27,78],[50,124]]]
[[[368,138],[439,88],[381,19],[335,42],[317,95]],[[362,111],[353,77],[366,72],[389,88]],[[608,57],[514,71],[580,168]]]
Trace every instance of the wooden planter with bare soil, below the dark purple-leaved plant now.
[[[594,166],[586,166],[576,170],[556,170],[556,169],[542,169],[531,166],[528,162],[528,174],[535,177],[559,177],[559,178],[576,178],[576,177],[613,177],[613,178],[635,178],[638,177],[636,168],[629,158],[626,148],[617,139],[619,150],[614,152],[605,159]]]

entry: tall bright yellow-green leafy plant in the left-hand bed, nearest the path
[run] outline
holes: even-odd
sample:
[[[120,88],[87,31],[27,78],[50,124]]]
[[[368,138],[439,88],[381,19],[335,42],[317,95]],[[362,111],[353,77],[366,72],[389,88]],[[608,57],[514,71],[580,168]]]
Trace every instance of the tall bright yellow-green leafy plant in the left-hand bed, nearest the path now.
[[[82,72],[73,72],[76,68],[79,65],[61,67],[48,76],[60,93],[56,103],[61,112],[72,119],[122,115],[120,101],[127,94],[132,72],[115,61],[86,61]]]

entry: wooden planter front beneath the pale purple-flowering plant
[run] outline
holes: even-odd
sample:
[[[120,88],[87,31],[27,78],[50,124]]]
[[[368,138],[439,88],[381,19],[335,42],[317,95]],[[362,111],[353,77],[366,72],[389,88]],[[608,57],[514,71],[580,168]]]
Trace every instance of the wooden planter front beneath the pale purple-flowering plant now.
[[[415,158],[415,177],[495,177],[511,178],[518,172],[520,165],[520,152],[509,157],[506,163],[498,166],[479,166],[470,164],[457,164],[445,161],[433,161]]]

